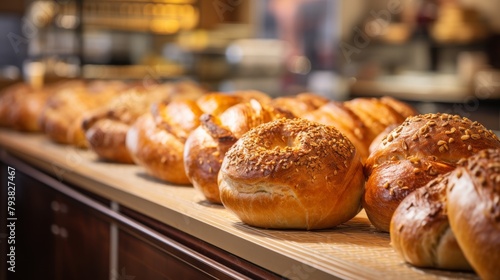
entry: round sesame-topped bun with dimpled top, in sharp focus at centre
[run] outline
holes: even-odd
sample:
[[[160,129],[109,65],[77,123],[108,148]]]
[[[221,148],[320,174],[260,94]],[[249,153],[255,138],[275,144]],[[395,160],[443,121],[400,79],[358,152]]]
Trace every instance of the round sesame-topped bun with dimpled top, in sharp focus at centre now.
[[[229,149],[218,182],[222,203],[244,223],[309,230],[353,218],[364,177],[356,149],[335,128],[280,119]]]

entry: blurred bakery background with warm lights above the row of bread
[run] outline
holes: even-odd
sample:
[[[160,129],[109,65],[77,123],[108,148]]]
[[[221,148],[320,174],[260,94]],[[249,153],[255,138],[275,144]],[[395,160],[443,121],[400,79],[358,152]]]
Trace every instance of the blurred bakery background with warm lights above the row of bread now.
[[[2,1],[0,87],[192,79],[272,96],[391,95],[499,129],[498,12],[499,0]]]

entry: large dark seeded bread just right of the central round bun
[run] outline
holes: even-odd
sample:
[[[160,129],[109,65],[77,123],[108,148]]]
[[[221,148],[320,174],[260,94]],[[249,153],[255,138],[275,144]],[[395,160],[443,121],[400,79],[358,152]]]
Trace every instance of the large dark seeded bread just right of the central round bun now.
[[[363,207],[368,218],[376,228],[389,231],[394,210],[409,193],[450,172],[461,159],[499,147],[493,132],[467,118],[449,114],[407,118],[366,160]]]

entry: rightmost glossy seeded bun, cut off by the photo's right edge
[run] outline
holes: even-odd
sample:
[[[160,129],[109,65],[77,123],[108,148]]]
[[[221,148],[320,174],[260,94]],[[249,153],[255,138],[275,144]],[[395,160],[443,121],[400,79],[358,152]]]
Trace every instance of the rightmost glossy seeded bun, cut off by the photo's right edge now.
[[[448,217],[481,279],[500,275],[500,150],[483,150],[449,176]]]

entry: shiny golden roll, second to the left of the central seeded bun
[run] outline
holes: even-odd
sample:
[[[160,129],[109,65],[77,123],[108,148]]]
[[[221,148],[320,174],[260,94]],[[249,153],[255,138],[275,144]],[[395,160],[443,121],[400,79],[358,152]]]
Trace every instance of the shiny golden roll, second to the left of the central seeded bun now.
[[[254,91],[210,93],[196,101],[181,99],[155,104],[151,112],[141,116],[127,132],[127,149],[134,162],[150,175],[175,184],[189,184],[184,169],[184,144],[200,125],[200,117],[203,114],[217,116],[248,98],[267,96]]]

